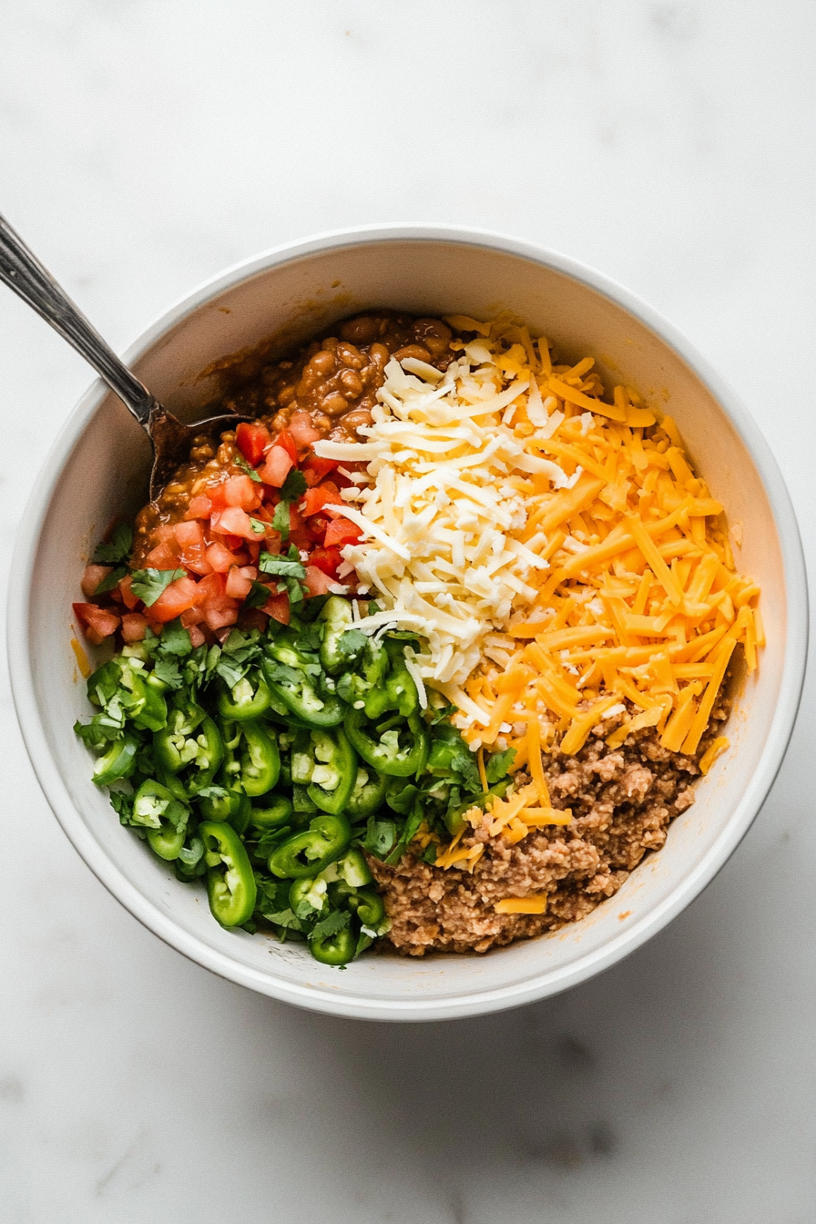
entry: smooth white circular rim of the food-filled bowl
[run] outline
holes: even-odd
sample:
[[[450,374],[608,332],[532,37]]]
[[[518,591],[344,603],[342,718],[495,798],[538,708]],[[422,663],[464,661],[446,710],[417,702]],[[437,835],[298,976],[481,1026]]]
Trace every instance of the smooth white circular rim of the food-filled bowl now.
[[[690,341],[637,295],[593,268],[536,242],[491,230],[433,223],[376,224],[327,230],[302,240],[273,246],[202,282],[149,324],[125,350],[124,360],[128,364],[137,361],[170,328],[207,301],[278,264],[349,246],[396,241],[475,246],[516,256],[570,277],[623,307],[673,349],[713,394],[740,435],[760,474],[779,532],[785,574],[787,636],[779,694],[763,752],[732,819],[708,853],[677,885],[670,896],[602,947],[579,957],[570,966],[544,969],[515,985],[475,990],[451,999],[426,999],[417,995],[389,1000],[365,993],[357,996],[338,995],[325,987],[300,985],[254,971],[179,928],[171,917],[135,889],[91,835],[50,756],[34,694],[28,645],[29,591],[40,531],[65,460],[109,394],[108,387],[100,379],[93,381],[60,430],[49,450],[43,475],[38,477],[29,496],[18,528],[11,565],[6,640],[13,703],[26,749],[45,798],[66,836],[94,875],[144,927],[197,965],[220,977],[311,1011],[366,1020],[453,1020],[520,1006],[577,985],[609,968],[656,935],[713,880],[760,812],[779,771],[793,732],[807,660],[807,577],[796,517],[784,479],[768,443],[739,397]]]

